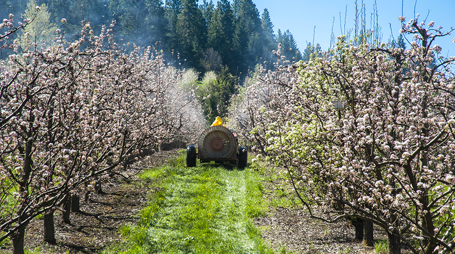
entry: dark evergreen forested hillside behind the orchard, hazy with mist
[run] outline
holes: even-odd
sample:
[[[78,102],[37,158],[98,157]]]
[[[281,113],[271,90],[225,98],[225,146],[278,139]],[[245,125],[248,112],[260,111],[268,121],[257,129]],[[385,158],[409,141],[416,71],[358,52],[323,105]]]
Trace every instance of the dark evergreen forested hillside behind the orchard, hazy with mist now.
[[[26,10],[36,6],[49,13],[40,18],[53,28],[49,36],[59,28],[68,41],[77,40],[87,23],[99,35],[103,24],[115,20],[114,40],[120,45],[154,46],[167,60],[202,73],[219,73],[227,66],[232,75],[245,76],[258,63],[273,62],[271,51],[279,43],[293,49],[286,52],[289,59],[301,59],[290,31],[275,33],[267,9],[260,14],[252,0],[6,0],[0,14],[7,18],[12,13],[18,22],[32,18]]]

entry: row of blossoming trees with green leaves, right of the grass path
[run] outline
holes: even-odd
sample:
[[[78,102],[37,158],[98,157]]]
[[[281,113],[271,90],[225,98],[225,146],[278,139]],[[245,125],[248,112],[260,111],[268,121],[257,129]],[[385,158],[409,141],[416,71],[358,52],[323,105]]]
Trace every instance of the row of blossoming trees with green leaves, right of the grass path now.
[[[452,253],[455,58],[435,45],[451,30],[401,19],[410,49],[340,37],[324,57],[260,76],[236,117],[313,217],[374,223],[389,253]]]

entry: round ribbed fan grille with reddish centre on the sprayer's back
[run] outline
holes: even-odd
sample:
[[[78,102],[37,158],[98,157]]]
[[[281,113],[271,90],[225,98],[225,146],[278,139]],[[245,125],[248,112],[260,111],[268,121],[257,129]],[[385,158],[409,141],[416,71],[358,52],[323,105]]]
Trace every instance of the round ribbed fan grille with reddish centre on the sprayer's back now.
[[[206,158],[230,158],[236,149],[234,135],[224,126],[210,126],[199,138],[202,156]]]

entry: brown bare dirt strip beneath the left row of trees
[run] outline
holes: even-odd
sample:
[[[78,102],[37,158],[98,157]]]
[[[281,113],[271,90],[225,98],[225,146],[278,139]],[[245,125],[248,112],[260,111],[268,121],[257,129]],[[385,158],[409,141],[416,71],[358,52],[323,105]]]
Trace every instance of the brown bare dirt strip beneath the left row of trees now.
[[[102,193],[94,193],[88,201],[80,201],[81,212],[71,213],[71,224],[61,223],[62,215],[54,215],[55,238],[57,244],[43,241],[43,220],[35,219],[27,227],[25,247],[29,250],[41,250],[41,253],[99,253],[110,244],[119,242],[119,227],[126,223],[135,223],[138,213],[145,206],[148,192],[152,192],[136,175],[144,168],[163,165],[177,156],[177,150],[161,151],[143,158],[123,172],[124,179],[116,177],[102,185]],[[12,253],[12,246],[0,248],[0,253]]]

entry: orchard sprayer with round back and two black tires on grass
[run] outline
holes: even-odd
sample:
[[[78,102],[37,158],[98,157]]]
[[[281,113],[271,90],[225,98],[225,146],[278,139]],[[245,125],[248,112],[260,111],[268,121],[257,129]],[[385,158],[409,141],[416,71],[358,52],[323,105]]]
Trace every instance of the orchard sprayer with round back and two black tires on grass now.
[[[238,147],[237,134],[223,125],[210,126],[205,129],[196,146],[187,148],[187,167],[195,167],[196,159],[201,163],[215,161],[231,162],[239,169],[247,167],[248,150],[245,146]]]

